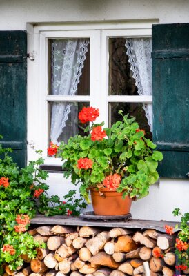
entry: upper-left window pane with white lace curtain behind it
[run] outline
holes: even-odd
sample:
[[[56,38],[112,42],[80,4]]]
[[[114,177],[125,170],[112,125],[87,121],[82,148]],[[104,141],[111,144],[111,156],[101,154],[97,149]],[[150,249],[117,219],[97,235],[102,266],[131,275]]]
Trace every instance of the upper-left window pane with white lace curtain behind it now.
[[[48,94],[90,95],[90,40],[48,40]]]

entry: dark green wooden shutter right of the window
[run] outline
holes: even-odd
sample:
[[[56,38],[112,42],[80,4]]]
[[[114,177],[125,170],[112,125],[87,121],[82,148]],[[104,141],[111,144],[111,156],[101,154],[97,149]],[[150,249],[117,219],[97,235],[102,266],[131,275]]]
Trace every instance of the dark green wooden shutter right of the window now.
[[[152,26],[153,140],[162,177],[189,172],[189,24]]]

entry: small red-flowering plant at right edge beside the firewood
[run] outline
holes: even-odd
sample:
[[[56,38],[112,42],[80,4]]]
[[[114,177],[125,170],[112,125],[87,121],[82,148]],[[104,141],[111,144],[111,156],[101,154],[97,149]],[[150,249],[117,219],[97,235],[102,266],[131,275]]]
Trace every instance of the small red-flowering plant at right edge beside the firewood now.
[[[179,228],[178,238],[175,244],[175,254],[177,255],[177,265],[175,268],[179,271],[189,268],[189,213],[182,214],[179,208],[173,210],[173,215],[181,216],[180,226],[176,225],[175,228]],[[166,233],[169,235],[174,234],[172,226],[165,226]]]

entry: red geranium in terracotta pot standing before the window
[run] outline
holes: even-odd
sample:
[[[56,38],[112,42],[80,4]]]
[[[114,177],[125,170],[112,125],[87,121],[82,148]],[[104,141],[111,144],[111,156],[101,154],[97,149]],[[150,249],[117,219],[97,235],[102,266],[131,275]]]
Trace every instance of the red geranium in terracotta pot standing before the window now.
[[[163,155],[154,151],[156,145],[145,137],[145,131],[139,128],[135,117],[128,118],[122,111],[119,114],[122,121],[110,128],[102,128],[103,123],[94,124],[99,109],[83,107],[79,120],[83,124],[92,122],[84,130],[86,136],[75,135],[67,144],[62,141],[59,148],[51,144],[51,150],[48,150],[61,157],[64,176],[71,177],[73,184],[80,184],[80,193],[87,202],[90,202],[88,195],[91,191],[96,215],[128,213],[130,206],[126,208],[126,203],[130,205],[132,199],[148,195],[149,186],[159,178],[157,166]],[[112,194],[121,199],[121,204]],[[101,202],[96,203],[94,196]],[[104,206],[106,201],[107,208]],[[115,213],[112,206],[116,208]]]

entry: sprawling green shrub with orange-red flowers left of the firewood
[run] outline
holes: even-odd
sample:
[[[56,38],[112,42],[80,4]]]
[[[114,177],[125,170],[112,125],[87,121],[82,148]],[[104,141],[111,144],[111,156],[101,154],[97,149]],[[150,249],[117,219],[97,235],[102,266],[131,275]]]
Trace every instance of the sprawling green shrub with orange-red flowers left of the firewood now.
[[[35,257],[39,243],[26,231],[37,211],[45,215],[79,215],[86,206],[82,199],[74,199],[75,190],[63,202],[57,196],[48,197],[48,185],[44,183],[48,174],[39,168],[43,164],[40,151],[39,159],[22,169],[12,161],[11,151],[0,144],[0,275],[4,264],[14,270],[23,264],[22,255]]]

